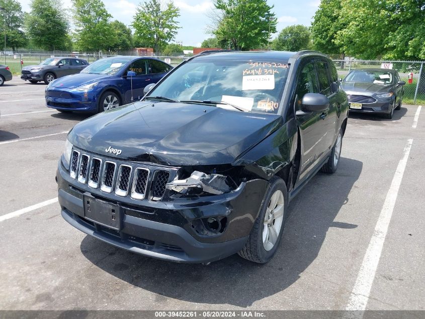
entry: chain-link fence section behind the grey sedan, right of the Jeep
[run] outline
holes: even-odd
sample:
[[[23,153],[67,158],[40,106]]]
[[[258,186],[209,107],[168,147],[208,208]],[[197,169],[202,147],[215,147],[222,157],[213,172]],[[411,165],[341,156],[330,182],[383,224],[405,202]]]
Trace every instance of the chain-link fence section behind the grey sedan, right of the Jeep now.
[[[378,60],[333,60],[339,76],[345,78],[351,70],[388,67],[398,72],[405,81],[403,103],[425,104],[425,62],[423,61],[378,61]],[[409,81],[410,80],[410,81]]]

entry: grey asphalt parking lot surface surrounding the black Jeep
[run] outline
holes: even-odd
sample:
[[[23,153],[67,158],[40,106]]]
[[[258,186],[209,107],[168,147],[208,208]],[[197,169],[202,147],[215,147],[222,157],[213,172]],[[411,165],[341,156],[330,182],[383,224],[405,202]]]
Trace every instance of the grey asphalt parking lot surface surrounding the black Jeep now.
[[[204,266],[138,256],[62,219],[57,161],[89,115],[48,109],[44,88],[19,78],[0,88],[0,309],[423,310],[418,106],[392,120],[350,115],[337,172],[318,173],[290,203],[271,262]]]

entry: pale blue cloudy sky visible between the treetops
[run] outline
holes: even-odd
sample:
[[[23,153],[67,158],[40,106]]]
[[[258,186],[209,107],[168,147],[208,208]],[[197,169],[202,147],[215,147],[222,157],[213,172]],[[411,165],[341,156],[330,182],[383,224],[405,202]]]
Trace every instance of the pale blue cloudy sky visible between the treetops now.
[[[130,26],[136,13],[140,0],[103,0],[106,9],[113,16],[113,20],[119,20]],[[30,11],[30,0],[21,0],[22,9]],[[62,0],[65,8],[71,8],[70,0]],[[143,3],[143,1],[142,1]],[[278,18],[277,30],[294,25],[303,24],[310,26],[312,17],[319,7],[320,0],[278,1],[268,0],[269,6]],[[203,40],[211,37],[207,32],[210,24],[208,12],[213,8],[211,0],[174,0],[174,4],[180,8],[180,29],[175,42],[181,41],[183,45],[201,46]],[[273,37],[275,37],[275,34]]]

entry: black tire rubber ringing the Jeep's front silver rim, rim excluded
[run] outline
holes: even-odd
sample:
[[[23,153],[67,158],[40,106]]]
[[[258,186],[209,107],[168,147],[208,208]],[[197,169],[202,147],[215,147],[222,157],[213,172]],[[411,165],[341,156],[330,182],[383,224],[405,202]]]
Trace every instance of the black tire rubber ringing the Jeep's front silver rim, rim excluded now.
[[[279,178],[279,177],[276,177],[276,176],[273,177],[271,181],[272,181],[272,185],[267,192],[266,198],[264,199],[263,205],[262,205],[261,210],[260,210],[260,214],[259,214],[259,216],[256,220],[256,223],[259,223],[259,227],[257,229],[257,231],[258,231],[258,233],[257,233],[258,257],[260,258],[262,263],[267,263],[268,261],[270,261],[272,259],[272,257],[274,256],[274,254],[276,253],[276,250],[278,249],[280,241],[282,239],[282,233],[283,233],[283,230],[285,228],[285,221],[286,221],[286,217],[287,217],[287,214],[288,214],[288,192],[287,192],[287,189],[286,189],[285,182],[283,181],[282,178]],[[280,189],[282,191],[283,198],[284,198],[284,201],[285,201],[283,221],[282,221],[282,226],[281,226],[280,232],[278,234],[278,240],[277,240],[276,244],[273,246],[272,249],[267,251],[264,248],[264,244],[263,244],[263,222],[264,222],[264,217],[266,215],[267,207],[269,206],[270,198],[272,197],[272,195],[278,189]]]

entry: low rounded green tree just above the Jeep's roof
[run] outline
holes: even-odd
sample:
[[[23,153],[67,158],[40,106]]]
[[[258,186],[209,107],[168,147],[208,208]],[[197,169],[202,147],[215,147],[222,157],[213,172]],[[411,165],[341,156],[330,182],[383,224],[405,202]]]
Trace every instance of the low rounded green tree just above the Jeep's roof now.
[[[310,30],[301,24],[283,29],[272,42],[272,48],[278,51],[300,51],[310,46]]]

